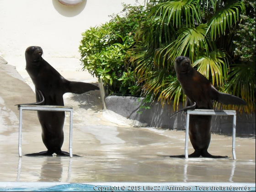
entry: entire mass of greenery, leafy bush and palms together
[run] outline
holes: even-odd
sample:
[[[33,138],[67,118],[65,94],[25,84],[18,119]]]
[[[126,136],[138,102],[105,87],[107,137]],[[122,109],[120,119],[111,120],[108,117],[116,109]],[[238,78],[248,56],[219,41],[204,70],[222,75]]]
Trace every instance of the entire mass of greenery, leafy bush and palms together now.
[[[141,94],[142,108],[156,99],[177,109],[186,96],[174,60],[183,55],[219,91],[248,103],[236,109],[255,111],[255,1],[146,0],[111,17],[83,33],[80,46],[83,69],[110,94]]]

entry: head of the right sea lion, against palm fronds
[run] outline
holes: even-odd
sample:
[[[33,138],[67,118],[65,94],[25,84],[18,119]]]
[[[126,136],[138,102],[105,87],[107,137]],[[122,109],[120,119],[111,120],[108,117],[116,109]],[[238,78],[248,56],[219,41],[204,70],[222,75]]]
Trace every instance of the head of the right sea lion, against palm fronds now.
[[[191,61],[188,57],[176,57],[174,67],[177,74],[187,73],[191,69]]]

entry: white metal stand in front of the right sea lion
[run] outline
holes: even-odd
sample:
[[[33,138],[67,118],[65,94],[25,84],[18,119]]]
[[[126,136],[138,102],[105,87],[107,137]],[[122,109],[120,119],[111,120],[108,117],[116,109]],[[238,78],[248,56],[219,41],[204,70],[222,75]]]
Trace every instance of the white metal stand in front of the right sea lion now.
[[[233,144],[232,144],[232,154],[233,159],[236,160],[235,156],[235,127],[236,127],[236,111],[234,110],[223,110],[223,111],[214,111],[209,109],[195,109],[187,110],[187,125],[186,125],[186,139],[185,139],[185,158],[188,159],[187,154],[187,144],[188,144],[188,128],[189,128],[189,115],[232,115],[233,118]]]

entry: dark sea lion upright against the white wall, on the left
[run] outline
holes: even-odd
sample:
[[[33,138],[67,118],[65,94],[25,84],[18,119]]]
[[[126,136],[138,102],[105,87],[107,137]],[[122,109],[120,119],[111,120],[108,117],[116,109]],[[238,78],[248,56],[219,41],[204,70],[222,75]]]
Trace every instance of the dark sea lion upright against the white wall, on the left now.
[[[42,48],[37,46],[28,47],[25,52],[26,70],[35,85],[37,101],[27,105],[64,106],[64,93],[82,94],[99,90],[96,85],[90,83],[66,80],[42,58],[42,54]],[[53,155],[53,153],[69,156],[68,152],[61,150],[64,142],[65,112],[37,111],[37,116],[42,127],[43,144],[48,150],[27,156]]]

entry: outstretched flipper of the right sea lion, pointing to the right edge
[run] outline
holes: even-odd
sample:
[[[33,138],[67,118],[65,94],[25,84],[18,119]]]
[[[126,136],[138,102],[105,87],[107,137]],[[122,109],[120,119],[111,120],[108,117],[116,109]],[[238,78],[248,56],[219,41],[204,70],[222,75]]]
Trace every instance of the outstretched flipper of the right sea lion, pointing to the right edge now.
[[[237,96],[221,93],[213,85],[211,87],[212,99],[224,105],[246,105],[246,102]]]

